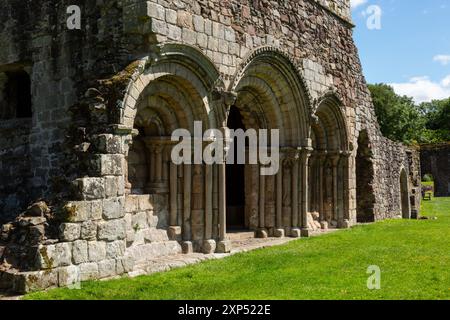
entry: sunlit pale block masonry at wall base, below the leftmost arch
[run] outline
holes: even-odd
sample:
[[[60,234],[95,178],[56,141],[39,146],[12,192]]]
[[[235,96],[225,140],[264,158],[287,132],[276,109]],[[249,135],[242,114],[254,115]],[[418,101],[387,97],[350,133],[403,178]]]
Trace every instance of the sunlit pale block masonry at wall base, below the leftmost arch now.
[[[148,260],[180,254],[181,246],[169,240],[167,233],[167,206],[163,195],[67,204],[70,222],[60,224],[59,239],[46,239],[43,231],[38,241],[22,243],[20,250],[31,250],[26,266],[8,261],[12,256],[7,256],[5,262],[11,262],[13,268],[0,271],[0,290],[25,293],[110,278],[132,272]],[[47,223],[45,217],[21,221],[29,222],[24,225],[27,230]],[[22,233],[17,230],[15,234]],[[17,245],[16,240],[10,240]]]

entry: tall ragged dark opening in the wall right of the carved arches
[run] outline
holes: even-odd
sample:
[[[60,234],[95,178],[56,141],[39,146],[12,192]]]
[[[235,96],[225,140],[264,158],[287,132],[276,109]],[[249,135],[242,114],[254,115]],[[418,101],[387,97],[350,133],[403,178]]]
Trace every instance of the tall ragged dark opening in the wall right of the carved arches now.
[[[375,221],[375,194],[373,189],[373,154],[367,131],[361,131],[356,155],[356,210],[357,221]]]

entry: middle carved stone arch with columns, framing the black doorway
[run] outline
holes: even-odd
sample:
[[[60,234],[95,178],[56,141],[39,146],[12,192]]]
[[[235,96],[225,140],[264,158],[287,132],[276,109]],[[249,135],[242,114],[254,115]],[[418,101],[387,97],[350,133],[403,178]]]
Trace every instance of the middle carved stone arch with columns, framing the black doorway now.
[[[261,176],[258,166],[246,165],[245,179],[240,176],[236,180],[235,175],[233,181],[227,181],[229,185],[245,184],[245,213],[240,213],[245,214],[245,227],[262,237],[298,236],[304,226],[299,148],[308,147],[311,110],[301,73],[288,55],[263,47],[244,61],[231,90],[237,95],[233,117],[242,127],[280,130],[282,154],[276,176]]]

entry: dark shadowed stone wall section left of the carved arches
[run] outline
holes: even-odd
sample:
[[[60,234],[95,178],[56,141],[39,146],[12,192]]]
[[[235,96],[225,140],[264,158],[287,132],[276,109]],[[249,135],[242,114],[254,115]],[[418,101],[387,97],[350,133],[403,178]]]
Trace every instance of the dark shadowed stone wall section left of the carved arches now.
[[[82,30],[66,26],[66,10],[72,4],[82,8]],[[30,200],[66,196],[71,181],[86,174],[86,165],[76,153],[86,151],[87,145],[78,142],[85,140],[89,119],[78,117],[85,110],[77,103],[90,80],[108,77],[126,65],[124,56],[129,52],[124,48],[135,50],[129,39],[121,37],[121,21],[118,1],[2,1],[0,72],[26,69],[33,115],[29,133],[21,136],[26,146],[22,161],[10,166],[11,157],[0,159],[0,217],[16,216]],[[5,139],[23,132],[22,125],[15,129],[14,121],[1,121]],[[3,142],[1,150],[13,143]]]

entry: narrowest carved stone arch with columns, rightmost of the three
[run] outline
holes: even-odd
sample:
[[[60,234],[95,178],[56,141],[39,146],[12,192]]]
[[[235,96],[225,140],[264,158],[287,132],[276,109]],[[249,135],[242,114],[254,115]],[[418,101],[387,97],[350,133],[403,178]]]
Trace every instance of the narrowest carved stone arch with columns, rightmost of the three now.
[[[342,103],[332,93],[319,99],[311,139],[313,153],[309,163],[309,211],[322,227],[348,226],[349,143]]]

